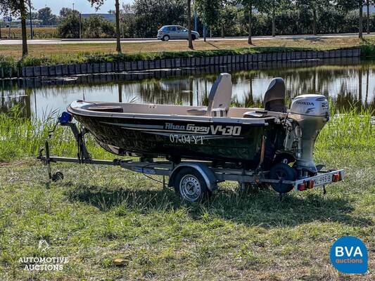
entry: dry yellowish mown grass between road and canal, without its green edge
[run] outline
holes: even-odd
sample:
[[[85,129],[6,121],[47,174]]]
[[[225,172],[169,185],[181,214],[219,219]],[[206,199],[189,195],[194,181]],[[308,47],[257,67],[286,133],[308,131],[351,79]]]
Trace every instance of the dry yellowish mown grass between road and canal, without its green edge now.
[[[186,41],[154,41],[143,43],[122,43],[122,53],[129,55],[139,55],[146,58],[160,56],[163,53],[189,52],[191,55],[197,52],[238,50],[239,52],[262,51],[263,48],[278,48],[279,51],[288,51],[288,49],[314,49],[329,50],[334,48],[352,48],[362,46],[363,44],[374,44],[373,37],[367,37],[362,41],[355,37],[348,38],[328,38],[328,39],[257,39],[254,45],[250,46],[246,40],[224,40],[215,41],[210,39],[207,42],[200,39],[194,41],[194,51],[188,48]],[[29,44],[30,59],[44,58],[51,60],[80,60],[87,55],[108,55],[115,54],[115,43],[108,44]],[[267,51],[267,50],[266,50]],[[12,57],[17,60],[21,58],[22,46],[20,45],[0,45],[0,55]]]

